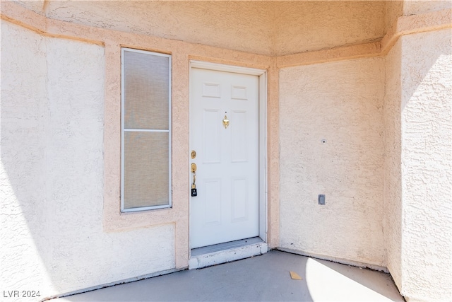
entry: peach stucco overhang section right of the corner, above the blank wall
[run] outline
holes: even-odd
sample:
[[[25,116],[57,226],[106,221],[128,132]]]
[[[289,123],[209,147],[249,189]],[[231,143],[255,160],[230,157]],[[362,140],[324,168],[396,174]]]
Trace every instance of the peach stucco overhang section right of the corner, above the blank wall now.
[[[379,40],[384,1],[274,1],[278,56]]]

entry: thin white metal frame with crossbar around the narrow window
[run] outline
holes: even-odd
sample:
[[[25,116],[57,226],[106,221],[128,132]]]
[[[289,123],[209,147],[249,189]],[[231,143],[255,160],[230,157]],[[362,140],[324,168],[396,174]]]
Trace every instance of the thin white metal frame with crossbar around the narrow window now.
[[[124,100],[124,52],[138,52],[142,54],[150,54],[158,57],[167,57],[168,58],[168,76],[169,76],[169,83],[168,83],[168,129],[162,130],[162,129],[126,129],[124,128],[124,112],[125,112],[125,100]],[[153,209],[164,209],[164,208],[171,208],[172,207],[172,169],[171,169],[171,133],[172,133],[172,120],[171,120],[171,83],[172,83],[172,60],[171,60],[171,54],[161,54],[158,52],[148,52],[145,50],[134,50],[132,48],[127,47],[121,47],[121,212],[133,212],[133,211],[147,211],[147,210],[153,210]],[[168,133],[168,204],[163,204],[160,206],[152,206],[152,207],[137,207],[137,208],[131,208],[131,209],[124,209],[124,133],[130,131],[130,132],[167,132]],[[158,173],[158,171],[155,171],[155,173]]]

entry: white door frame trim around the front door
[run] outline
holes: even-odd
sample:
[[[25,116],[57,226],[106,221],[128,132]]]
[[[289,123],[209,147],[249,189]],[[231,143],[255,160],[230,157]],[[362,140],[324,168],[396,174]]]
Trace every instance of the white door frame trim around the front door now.
[[[259,237],[264,243],[267,242],[267,217],[268,217],[268,187],[267,187],[267,71],[266,69],[255,69],[242,66],[233,66],[226,64],[210,63],[197,60],[190,60],[189,62],[189,129],[191,128],[191,86],[192,77],[191,70],[194,68],[198,69],[208,69],[215,71],[226,71],[236,74],[249,74],[252,76],[258,76],[258,124],[259,124]],[[191,130],[191,129],[190,129]],[[191,131],[189,131],[189,145],[191,144]],[[191,148],[191,146],[189,146]],[[191,150],[191,149],[190,149]],[[190,156],[187,155],[189,161]],[[189,168],[187,168],[189,172]],[[190,173],[189,177],[190,179]],[[189,190],[187,190],[189,192]],[[191,204],[191,197],[189,197]],[[191,209],[191,207],[189,207]],[[189,211],[189,223],[191,222],[191,210]],[[189,233],[190,234],[190,233]],[[189,235],[190,236],[190,235]],[[190,238],[189,238],[189,249],[190,249]],[[189,250],[189,255],[191,257],[191,250]]]

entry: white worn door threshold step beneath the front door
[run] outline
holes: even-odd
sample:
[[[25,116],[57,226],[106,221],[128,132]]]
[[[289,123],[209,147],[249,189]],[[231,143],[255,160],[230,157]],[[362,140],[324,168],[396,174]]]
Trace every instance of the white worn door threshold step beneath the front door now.
[[[220,265],[221,263],[262,255],[267,251],[267,243],[264,243],[259,237],[194,248],[191,250],[189,269]]]

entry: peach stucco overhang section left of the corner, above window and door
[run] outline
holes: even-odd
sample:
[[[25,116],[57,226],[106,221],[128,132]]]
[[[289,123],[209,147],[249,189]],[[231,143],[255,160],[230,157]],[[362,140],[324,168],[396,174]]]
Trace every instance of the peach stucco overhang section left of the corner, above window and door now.
[[[273,30],[268,2],[51,1],[47,16],[62,21],[268,54]],[[246,16],[246,18],[244,18]]]

